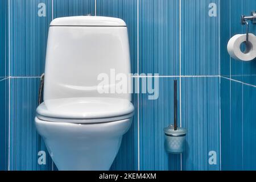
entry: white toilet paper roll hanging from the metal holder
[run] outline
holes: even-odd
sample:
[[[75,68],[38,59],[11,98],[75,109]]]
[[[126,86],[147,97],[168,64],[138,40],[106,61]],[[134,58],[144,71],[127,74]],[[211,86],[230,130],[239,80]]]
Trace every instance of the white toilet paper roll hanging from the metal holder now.
[[[246,34],[234,35],[228,43],[228,52],[233,59],[251,61],[256,57],[256,36],[249,34],[249,41],[246,43],[245,51],[241,51],[241,44],[246,43]]]

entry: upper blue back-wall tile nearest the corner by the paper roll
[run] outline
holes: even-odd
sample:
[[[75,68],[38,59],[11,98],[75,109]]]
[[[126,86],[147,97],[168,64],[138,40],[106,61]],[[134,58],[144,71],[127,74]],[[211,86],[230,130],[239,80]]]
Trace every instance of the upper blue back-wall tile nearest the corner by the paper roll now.
[[[209,4],[217,5],[210,17]],[[220,1],[181,1],[181,75],[220,75]]]

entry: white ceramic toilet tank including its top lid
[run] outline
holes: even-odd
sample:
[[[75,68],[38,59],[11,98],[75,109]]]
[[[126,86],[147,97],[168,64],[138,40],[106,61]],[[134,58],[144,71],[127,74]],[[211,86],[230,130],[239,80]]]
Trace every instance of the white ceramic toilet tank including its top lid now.
[[[52,20],[47,42],[44,100],[70,97],[131,100],[129,73],[129,41],[123,20],[104,16]],[[123,82],[125,76],[127,81]],[[118,84],[127,91],[116,90]]]

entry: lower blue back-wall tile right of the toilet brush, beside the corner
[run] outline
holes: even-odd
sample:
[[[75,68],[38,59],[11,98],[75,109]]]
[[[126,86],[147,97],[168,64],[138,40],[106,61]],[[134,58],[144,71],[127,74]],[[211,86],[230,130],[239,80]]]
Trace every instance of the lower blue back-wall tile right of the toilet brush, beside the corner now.
[[[182,126],[188,129],[183,170],[220,169],[220,78],[181,79]],[[216,163],[209,164],[215,151]]]

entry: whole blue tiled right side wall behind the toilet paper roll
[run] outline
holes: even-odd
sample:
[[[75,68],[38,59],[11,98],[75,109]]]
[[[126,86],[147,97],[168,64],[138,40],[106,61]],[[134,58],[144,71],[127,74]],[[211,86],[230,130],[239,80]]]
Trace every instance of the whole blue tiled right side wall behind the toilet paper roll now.
[[[223,170],[255,170],[256,61],[230,58],[226,45],[245,34],[241,15],[256,9],[254,0],[221,1],[221,162]],[[250,32],[256,26],[250,23]]]

